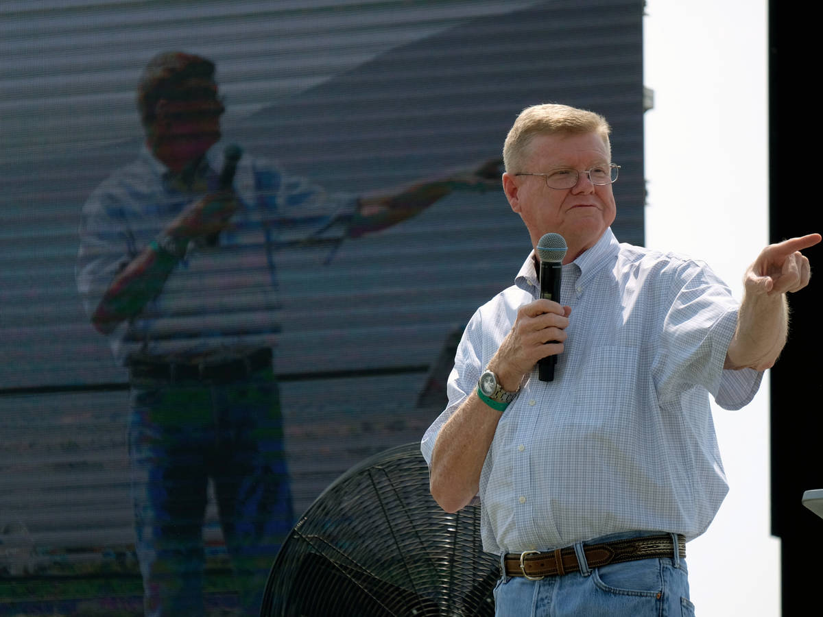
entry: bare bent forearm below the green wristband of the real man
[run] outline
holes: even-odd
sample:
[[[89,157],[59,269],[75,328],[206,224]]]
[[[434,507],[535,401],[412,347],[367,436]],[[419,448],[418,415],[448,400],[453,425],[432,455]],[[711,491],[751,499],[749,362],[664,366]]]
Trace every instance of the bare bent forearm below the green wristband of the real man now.
[[[457,512],[477,495],[501,415],[472,392],[440,429],[431,455],[430,489],[446,512]]]

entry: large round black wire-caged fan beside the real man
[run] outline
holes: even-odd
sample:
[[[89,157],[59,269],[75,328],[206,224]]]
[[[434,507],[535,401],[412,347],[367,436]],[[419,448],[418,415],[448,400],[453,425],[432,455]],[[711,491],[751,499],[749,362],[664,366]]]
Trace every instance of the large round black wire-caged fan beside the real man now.
[[[352,467],[306,510],[272,565],[261,617],[494,615],[500,562],[480,508],[445,513],[420,443]]]

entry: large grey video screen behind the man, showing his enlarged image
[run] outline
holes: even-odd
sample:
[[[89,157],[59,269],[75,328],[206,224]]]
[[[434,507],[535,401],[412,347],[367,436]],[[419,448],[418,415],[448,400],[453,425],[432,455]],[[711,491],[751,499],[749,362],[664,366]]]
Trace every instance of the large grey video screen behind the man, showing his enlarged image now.
[[[0,615],[142,614],[135,520],[153,506],[135,499],[146,471],[136,415],[190,410],[196,395],[146,403],[130,387],[133,354],[174,360],[181,340],[205,339],[211,354],[218,340],[242,371],[245,350],[273,350],[272,431],[281,430],[273,439],[292,522],[351,466],[419,441],[444,407],[463,326],[531,250],[502,189],[462,180],[478,169],[499,177],[493,161],[526,106],[606,116],[621,165],[613,229],[643,244],[642,11],[637,0],[3,2]],[[192,190],[170,188],[146,162],[137,107],[146,64],[173,51],[214,64],[225,107],[216,162],[203,173],[226,169],[236,144],[240,209],[276,195],[281,211],[271,225],[249,214],[248,229],[221,232],[224,244],[198,245],[164,274],[179,302],[162,327],[152,297],[101,333],[92,288],[156,242],[148,219],[170,220],[158,187]],[[413,216],[346,232],[358,200],[441,179],[442,195]],[[113,205],[123,193],[128,207]],[[142,208],[139,224],[128,208]],[[100,243],[126,248],[94,270]],[[232,259],[198,271],[195,253],[221,249]],[[202,421],[179,421],[177,442]],[[230,464],[229,446],[213,452],[213,466]],[[236,608],[237,590],[223,489],[212,479],[205,490],[208,612]]]

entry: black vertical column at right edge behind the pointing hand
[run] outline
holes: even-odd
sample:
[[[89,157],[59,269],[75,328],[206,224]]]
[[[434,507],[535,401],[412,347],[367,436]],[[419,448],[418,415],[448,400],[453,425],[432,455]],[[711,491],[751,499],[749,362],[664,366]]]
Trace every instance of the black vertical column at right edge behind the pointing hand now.
[[[769,2],[770,240],[823,233],[823,131],[812,58],[819,35],[798,5]],[[811,37],[811,38],[809,38]],[[799,79],[798,79],[799,78]],[[823,272],[823,248],[804,251]],[[788,344],[771,371],[772,533],[781,541],[783,616],[819,594],[823,519],[804,490],[823,489],[823,276],[789,295]]]

